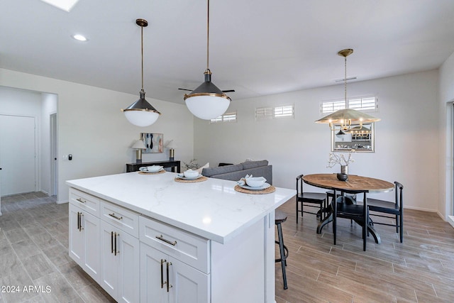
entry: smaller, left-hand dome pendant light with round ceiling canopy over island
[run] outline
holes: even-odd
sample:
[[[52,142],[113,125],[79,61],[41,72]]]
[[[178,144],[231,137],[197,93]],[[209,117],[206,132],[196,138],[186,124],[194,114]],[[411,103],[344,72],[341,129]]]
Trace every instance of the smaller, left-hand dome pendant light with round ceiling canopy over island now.
[[[140,98],[133,104],[128,106],[126,109],[121,109],[125,113],[126,119],[135,126],[150,126],[155,123],[157,118],[160,116],[160,112],[157,111],[151,104],[145,100],[145,91],[143,90],[143,28],[148,26],[148,22],[145,19],[137,19],[135,23],[140,26],[141,36],[141,52],[142,52],[142,89],[140,89]]]

